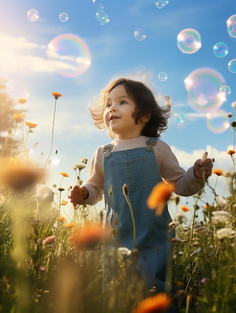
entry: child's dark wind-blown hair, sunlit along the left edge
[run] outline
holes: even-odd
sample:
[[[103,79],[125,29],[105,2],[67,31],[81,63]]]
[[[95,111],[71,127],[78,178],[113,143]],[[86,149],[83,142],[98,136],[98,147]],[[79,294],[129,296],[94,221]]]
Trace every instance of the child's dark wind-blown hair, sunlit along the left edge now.
[[[167,129],[168,118],[171,115],[170,97],[165,96],[165,104],[160,106],[155,99],[151,89],[143,82],[129,78],[118,78],[110,82],[104,89],[101,90],[97,103],[89,106],[90,115],[94,119],[94,124],[99,129],[106,129],[103,120],[105,111],[105,103],[109,92],[118,85],[123,84],[127,94],[134,100],[136,104],[133,117],[136,124],[142,116],[150,115],[149,121],[142,129],[141,135],[159,137],[161,132]],[[111,138],[115,138],[116,134],[110,129],[107,129]]]

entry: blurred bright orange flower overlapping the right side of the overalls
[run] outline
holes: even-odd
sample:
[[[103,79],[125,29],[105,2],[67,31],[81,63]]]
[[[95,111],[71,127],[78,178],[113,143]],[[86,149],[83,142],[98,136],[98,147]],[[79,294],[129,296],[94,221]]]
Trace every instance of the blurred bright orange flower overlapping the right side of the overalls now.
[[[163,181],[157,183],[147,198],[147,206],[151,209],[155,208],[156,214],[161,215],[174,189],[173,183],[167,184]]]

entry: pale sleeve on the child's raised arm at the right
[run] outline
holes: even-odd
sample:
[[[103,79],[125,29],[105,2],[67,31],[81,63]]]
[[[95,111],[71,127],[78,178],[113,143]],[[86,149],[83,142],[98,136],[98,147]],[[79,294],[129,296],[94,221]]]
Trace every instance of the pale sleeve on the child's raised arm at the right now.
[[[194,176],[193,166],[185,171],[170,146],[162,140],[157,146],[156,158],[161,177],[175,184],[176,194],[190,196],[204,187],[204,180]]]

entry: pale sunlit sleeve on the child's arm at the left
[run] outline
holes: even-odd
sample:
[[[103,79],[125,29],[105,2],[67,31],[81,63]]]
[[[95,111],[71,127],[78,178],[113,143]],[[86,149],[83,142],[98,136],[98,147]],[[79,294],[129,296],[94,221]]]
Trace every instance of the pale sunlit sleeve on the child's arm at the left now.
[[[99,147],[94,153],[89,170],[89,178],[82,184],[86,186],[89,192],[86,204],[94,205],[102,199],[104,194],[104,171],[103,171],[104,153]]]

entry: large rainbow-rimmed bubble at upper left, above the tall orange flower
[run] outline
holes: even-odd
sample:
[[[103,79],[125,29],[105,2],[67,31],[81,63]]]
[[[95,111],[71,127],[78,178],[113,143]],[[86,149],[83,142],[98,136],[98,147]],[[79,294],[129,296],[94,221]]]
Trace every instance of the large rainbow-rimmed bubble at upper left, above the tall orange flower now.
[[[48,44],[47,55],[55,71],[66,77],[83,74],[91,64],[91,55],[86,42],[71,33],[53,38]]]

